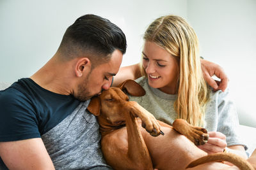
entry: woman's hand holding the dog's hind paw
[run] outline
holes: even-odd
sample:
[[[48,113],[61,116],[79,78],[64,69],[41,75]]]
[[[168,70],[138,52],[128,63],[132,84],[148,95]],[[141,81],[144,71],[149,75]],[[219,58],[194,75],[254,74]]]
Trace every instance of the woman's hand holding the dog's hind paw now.
[[[209,139],[205,145],[200,145],[198,148],[204,150],[208,154],[223,152],[225,147],[227,147],[227,141],[225,134],[221,132],[208,132]]]

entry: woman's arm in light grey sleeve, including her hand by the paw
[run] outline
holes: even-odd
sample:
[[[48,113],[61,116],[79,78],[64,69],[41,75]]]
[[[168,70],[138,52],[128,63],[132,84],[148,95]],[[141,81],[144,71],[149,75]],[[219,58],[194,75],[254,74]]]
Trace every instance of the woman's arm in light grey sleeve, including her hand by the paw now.
[[[205,115],[207,115],[205,120],[208,120],[207,125],[213,132],[209,132],[207,143],[198,148],[209,154],[223,152],[227,149],[227,152],[247,159],[244,143],[238,132],[239,119],[236,106],[230,99],[229,90],[212,92],[209,103],[211,104],[205,110]]]

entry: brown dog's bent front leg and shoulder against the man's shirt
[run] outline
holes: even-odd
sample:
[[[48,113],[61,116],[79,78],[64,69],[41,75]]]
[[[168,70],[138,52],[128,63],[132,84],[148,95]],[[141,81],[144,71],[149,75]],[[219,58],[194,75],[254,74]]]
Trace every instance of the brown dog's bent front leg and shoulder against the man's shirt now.
[[[122,104],[120,113],[125,118],[126,127],[115,129],[102,138],[104,158],[114,169],[153,169],[148,148],[137,122],[138,110],[135,108],[133,102]]]

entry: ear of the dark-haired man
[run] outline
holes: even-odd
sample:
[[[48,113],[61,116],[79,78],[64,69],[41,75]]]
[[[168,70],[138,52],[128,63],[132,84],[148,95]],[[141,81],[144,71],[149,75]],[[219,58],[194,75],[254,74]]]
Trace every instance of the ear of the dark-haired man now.
[[[83,57],[77,60],[76,62],[76,76],[83,76],[86,71],[90,71],[92,67],[92,62],[87,57]]]

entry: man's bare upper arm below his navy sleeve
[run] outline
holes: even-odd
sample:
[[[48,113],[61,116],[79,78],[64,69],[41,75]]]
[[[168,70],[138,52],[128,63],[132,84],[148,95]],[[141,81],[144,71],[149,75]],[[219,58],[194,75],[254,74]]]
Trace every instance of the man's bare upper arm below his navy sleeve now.
[[[0,142],[0,157],[8,169],[54,169],[41,138]]]

